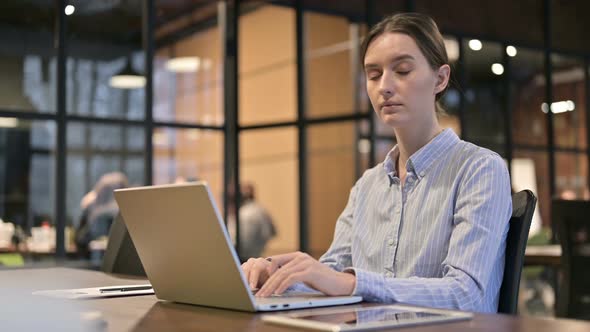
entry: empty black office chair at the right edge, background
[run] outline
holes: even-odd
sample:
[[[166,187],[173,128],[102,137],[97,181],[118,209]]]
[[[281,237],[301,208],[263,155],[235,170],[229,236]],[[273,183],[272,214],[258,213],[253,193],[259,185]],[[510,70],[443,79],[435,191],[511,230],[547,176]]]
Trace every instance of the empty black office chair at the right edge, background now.
[[[552,203],[551,220],[562,250],[557,316],[590,320],[590,202]]]

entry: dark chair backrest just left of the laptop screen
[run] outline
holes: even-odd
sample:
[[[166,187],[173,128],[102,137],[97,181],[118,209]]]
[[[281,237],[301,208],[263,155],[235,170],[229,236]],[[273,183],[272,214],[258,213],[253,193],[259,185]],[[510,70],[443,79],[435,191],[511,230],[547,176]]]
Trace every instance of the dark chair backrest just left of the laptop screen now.
[[[111,226],[101,270],[107,273],[145,276],[145,270],[121,214],[117,215]]]

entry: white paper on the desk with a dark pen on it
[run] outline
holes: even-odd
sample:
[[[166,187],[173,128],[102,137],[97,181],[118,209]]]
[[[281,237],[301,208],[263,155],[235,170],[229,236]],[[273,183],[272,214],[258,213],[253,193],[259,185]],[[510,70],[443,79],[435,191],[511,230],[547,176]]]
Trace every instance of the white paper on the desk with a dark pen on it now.
[[[49,297],[56,297],[61,299],[93,299],[102,297],[119,297],[119,296],[133,296],[133,295],[150,295],[154,294],[154,289],[150,284],[141,285],[119,285],[119,286],[104,286],[104,287],[90,287],[90,288],[73,288],[73,289],[51,289],[40,290],[33,292],[33,295],[42,295]],[[135,287],[148,289],[137,289]]]

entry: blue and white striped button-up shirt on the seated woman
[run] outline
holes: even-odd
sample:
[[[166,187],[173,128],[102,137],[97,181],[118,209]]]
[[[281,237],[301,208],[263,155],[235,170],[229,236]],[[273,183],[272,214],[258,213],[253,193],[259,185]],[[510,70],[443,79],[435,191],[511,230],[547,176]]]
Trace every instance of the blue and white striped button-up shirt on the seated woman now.
[[[414,153],[402,186],[394,147],[351,190],[320,262],[354,270],[366,301],[497,312],[510,178],[502,158],[446,129]]]

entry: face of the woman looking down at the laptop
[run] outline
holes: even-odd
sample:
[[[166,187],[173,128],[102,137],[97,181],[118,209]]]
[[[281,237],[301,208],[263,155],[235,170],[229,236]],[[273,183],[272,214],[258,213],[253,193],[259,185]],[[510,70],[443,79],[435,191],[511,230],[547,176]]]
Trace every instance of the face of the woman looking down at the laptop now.
[[[450,68],[432,70],[412,37],[391,32],[376,37],[364,67],[367,93],[383,122],[402,128],[436,121],[435,97],[446,87]]]

